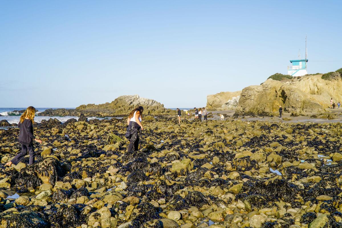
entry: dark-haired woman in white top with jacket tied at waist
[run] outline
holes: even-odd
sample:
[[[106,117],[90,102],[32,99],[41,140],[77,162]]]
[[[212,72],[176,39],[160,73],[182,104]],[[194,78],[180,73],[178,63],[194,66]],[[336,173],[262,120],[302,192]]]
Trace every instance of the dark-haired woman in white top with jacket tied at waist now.
[[[143,125],[141,124],[142,115],[144,108],[139,106],[133,109],[128,118],[127,118],[127,132],[126,138],[129,139],[130,143],[128,145],[128,152],[131,152],[134,146],[134,151],[139,148],[139,130],[144,130]]]

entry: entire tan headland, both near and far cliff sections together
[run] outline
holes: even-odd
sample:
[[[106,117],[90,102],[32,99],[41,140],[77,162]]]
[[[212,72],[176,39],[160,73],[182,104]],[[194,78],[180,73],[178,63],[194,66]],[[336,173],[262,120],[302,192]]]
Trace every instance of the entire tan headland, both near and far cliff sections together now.
[[[292,113],[293,116],[329,112],[331,98],[335,104],[342,100],[340,73],[336,71],[324,75],[287,76],[280,79],[281,74],[275,74],[276,79],[271,76],[260,85],[248,86],[241,91],[238,99],[230,98],[229,102],[223,95],[230,97],[230,92],[209,95],[207,106],[216,110],[235,109],[236,115],[248,116],[277,116],[279,105],[284,112]],[[326,76],[331,74],[338,76]]]

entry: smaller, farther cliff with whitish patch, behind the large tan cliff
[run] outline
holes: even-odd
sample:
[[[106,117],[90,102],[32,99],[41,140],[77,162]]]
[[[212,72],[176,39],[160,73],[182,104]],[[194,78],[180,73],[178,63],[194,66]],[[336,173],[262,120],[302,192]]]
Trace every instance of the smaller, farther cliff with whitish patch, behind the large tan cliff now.
[[[210,110],[233,110],[237,106],[237,102],[241,91],[221,92],[207,96],[207,109]]]

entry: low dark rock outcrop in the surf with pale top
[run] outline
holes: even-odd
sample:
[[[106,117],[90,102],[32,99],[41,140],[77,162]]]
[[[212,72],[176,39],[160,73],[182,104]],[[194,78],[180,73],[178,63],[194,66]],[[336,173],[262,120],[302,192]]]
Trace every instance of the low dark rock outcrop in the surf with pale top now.
[[[171,112],[163,104],[153,99],[143,98],[139,95],[125,95],[119,96],[111,103],[80,105],[76,109],[47,109],[39,113],[38,116],[123,116],[128,115],[137,106],[144,107],[144,114],[161,115]]]

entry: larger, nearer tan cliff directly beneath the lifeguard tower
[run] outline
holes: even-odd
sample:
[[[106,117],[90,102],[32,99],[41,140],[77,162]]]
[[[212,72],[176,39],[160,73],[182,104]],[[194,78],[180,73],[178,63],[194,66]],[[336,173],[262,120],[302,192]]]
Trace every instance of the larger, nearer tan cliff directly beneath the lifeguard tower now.
[[[330,107],[331,98],[336,104],[342,101],[341,88],[341,79],[327,81],[321,75],[268,79],[242,90],[236,113],[274,116],[279,105],[285,112],[322,112]]]

